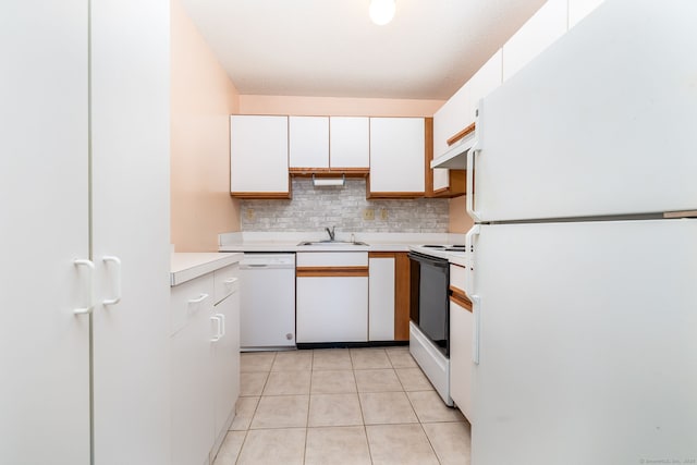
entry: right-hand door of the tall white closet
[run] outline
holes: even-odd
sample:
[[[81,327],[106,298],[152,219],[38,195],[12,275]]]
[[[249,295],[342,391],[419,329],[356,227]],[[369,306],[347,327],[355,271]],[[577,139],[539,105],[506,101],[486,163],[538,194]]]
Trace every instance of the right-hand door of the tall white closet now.
[[[91,15],[95,462],[169,464],[169,1]]]

